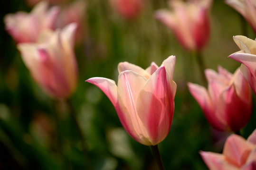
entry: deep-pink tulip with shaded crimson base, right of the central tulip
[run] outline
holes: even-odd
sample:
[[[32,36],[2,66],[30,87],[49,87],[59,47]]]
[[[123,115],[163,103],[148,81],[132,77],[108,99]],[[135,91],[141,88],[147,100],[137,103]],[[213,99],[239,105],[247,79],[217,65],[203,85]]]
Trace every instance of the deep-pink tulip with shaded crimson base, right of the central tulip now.
[[[192,83],[188,86],[209,124],[219,131],[237,132],[245,127],[252,113],[252,95],[239,68],[232,75],[219,66],[218,73],[206,69],[205,75],[208,90]]]

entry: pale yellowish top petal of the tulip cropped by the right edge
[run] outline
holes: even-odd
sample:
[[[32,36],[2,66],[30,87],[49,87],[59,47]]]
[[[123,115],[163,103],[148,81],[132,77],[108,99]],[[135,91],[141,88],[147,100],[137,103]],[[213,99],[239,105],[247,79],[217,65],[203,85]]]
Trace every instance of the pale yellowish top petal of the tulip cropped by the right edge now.
[[[249,54],[256,54],[256,41],[243,35],[236,35],[233,39],[241,50]]]

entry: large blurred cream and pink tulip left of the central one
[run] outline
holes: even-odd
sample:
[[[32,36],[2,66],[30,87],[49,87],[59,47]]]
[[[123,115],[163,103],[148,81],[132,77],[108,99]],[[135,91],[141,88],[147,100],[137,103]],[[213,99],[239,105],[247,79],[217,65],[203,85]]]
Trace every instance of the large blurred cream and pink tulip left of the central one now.
[[[67,98],[75,90],[77,64],[73,51],[76,24],[45,30],[37,43],[20,43],[21,57],[36,82],[52,97]]]

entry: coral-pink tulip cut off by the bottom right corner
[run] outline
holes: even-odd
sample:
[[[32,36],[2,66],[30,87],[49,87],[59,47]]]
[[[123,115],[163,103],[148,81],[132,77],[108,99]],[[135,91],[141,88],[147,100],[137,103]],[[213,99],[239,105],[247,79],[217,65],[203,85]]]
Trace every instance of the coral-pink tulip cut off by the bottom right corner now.
[[[231,135],[226,140],[223,154],[200,152],[209,170],[255,170],[256,169],[256,130],[245,140]]]

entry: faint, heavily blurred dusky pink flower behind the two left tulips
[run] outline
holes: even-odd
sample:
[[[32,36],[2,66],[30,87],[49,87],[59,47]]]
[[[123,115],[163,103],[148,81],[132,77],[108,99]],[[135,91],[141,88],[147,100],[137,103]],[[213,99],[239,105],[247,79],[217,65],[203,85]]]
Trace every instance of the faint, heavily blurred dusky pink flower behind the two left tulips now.
[[[66,8],[61,9],[56,22],[57,28],[63,28],[70,23],[76,23],[76,42],[80,42],[85,33],[85,0],[76,0]]]

